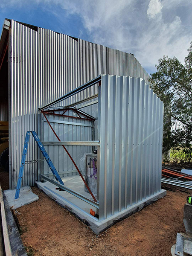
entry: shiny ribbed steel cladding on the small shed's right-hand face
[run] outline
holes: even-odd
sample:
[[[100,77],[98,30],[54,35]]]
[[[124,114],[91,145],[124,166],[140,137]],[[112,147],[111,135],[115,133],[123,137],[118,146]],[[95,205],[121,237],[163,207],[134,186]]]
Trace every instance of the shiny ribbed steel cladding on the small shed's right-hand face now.
[[[161,189],[163,102],[145,80],[102,76],[99,220]]]

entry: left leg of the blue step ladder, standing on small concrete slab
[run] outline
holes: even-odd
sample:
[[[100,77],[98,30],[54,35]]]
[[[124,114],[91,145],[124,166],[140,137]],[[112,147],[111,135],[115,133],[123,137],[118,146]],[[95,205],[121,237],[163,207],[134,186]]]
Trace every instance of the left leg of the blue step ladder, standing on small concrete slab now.
[[[26,137],[25,137],[25,143],[24,143],[24,147],[23,147],[22,159],[21,159],[21,163],[20,163],[19,178],[18,178],[18,181],[17,181],[17,189],[16,189],[16,192],[15,192],[15,199],[19,198],[20,186],[21,186],[21,181],[22,181],[22,177],[23,177],[23,170],[24,170],[24,166],[25,166],[25,160],[26,160],[26,153],[27,153],[29,138],[30,138],[30,131],[27,131],[26,132]]]

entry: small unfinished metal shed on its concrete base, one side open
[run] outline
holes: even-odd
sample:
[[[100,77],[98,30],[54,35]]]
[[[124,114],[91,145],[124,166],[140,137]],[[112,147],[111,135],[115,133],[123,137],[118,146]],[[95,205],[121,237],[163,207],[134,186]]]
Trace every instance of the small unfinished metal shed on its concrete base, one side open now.
[[[83,91],[90,92],[91,87],[96,94],[66,104],[67,99]],[[58,103],[60,106],[55,106]],[[51,170],[45,167],[37,185],[86,220],[95,233],[164,195],[161,190],[163,102],[145,80],[101,75],[39,111],[42,144],[64,186],[58,185]],[[83,173],[91,195],[81,177],[67,177],[67,159],[72,165],[83,161],[83,168],[80,164],[81,169],[77,169]],[[55,186],[65,191],[55,192]],[[95,212],[93,216],[90,207]]]

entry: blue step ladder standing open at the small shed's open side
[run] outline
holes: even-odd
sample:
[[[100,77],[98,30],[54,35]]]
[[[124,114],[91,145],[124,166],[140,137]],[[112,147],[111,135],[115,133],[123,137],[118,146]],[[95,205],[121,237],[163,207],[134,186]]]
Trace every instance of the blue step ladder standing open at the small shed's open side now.
[[[39,140],[39,137],[36,134],[36,132],[35,131],[27,131],[26,132],[26,137],[25,137],[25,143],[24,143],[24,147],[23,147],[23,154],[22,154],[20,169],[19,169],[19,177],[18,177],[18,181],[17,181],[17,189],[16,189],[16,192],[15,192],[15,199],[19,198],[20,186],[21,186],[21,181],[22,181],[22,177],[23,177],[23,170],[24,170],[26,154],[27,154],[27,148],[28,148],[31,133],[32,133],[32,136],[34,137],[38,147],[40,148],[41,153],[43,154],[45,160],[47,161],[47,164],[48,164],[49,168],[51,169],[52,174],[54,175],[55,179],[57,181],[59,181],[59,183],[64,185],[63,181],[61,180],[61,177],[59,176],[57,170],[55,169],[55,166],[53,165],[53,163],[52,163],[49,155],[47,154],[43,144]]]

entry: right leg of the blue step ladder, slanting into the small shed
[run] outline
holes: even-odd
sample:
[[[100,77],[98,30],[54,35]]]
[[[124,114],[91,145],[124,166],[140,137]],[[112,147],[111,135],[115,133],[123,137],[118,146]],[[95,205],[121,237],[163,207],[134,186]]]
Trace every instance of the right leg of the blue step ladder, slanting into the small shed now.
[[[49,168],[52,171],[52,174],[55,176],[55,179],[59,181],[59,183],[61,183],[62,185],[64,185],[63,180],[61,180],[61,177],[59,176],[57,170],[55,169],[55,166],[53,165],[49,155],[47,154],[44,145],[41,143],[41,141],[39,140],[38,135],[36,134],[35,131],[31,131],[36,143],[38,144],[38,147],[41,150],[41,153],[43,154],[43,156],[45,157],[45,160],[47,161],[47,164],[49,166]]]

